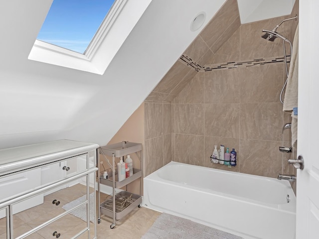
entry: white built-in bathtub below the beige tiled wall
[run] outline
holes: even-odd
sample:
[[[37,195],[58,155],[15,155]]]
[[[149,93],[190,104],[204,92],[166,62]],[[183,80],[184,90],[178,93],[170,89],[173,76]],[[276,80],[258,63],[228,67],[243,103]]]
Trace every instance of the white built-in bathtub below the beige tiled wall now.
[[[170,162],[144,178],[143,206],[244,239],[295,239],[288,181]]]

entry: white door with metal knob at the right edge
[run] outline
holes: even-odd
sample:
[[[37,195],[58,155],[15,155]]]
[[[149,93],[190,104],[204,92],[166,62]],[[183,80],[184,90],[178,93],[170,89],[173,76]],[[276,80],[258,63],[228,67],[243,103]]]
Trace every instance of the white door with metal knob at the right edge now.
[[[300,0],[297,239],[319,239],[319,0]]]

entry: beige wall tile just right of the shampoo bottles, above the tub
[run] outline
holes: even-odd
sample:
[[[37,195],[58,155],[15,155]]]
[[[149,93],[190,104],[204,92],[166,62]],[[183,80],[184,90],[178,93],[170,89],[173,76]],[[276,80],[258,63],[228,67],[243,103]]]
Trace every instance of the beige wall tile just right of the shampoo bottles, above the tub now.
[[[240,172],[276,178],[282,172],[281,141],[240,140]]]

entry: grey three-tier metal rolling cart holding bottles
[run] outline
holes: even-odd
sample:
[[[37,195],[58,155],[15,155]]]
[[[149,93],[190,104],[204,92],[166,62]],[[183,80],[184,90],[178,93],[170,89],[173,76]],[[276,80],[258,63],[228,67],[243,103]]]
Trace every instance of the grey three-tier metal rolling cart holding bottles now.
[[[123,157],[128,154],[135,153],[140,160],[140,168],[133,168],[133,175],[118,181],[118,172],[116,170],[117,165],[115,164],[115,157]],[[100,165],[100,155],[102,155],[108,162],[110,168],[104,169],[102,172],[98,170],[98,204],[99,204],[99,215],[98,223],[101,222],[101,213],[113,218],[113,223],[110,228],[113,229],[116,226],[116,221],[121,220],[123,217],[128,215],[137,206],[140,208],[142,205],[142,144],[123,141],[120,143],[110,144],[99,148],[98,151],[98,165]],[[112,163],[106,156],[112,156]],[[123,159],[124,161],[124,159]],[[104,166],[103,166],[104,167]],[[99,167],[98,167],[99,168]],[[111,171],[111,172],[110,172]],[[103,173],[108,173],[108,178],[103,177]],[[115,192],[116,188],[122,188],[127,186],[129,183],[141,178],[140,184],[140,195],[130,193],[128,191]],[[112,195],[109,195],[104,202],[100,202],[100,183],[110,186],[113,188]],[[127,187],[126,187],[127,190]]]

